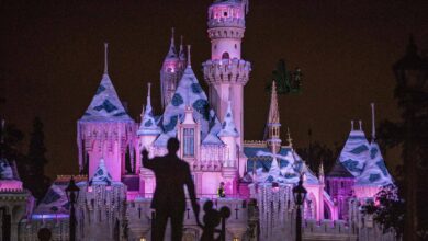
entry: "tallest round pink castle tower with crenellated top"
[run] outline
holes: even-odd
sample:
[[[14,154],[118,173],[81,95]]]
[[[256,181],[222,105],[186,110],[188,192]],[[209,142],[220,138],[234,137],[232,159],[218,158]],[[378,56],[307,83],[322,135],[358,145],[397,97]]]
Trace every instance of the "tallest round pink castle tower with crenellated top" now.
[[[221,120],[227,102],[232,101],[236,128],[244,139],[244,85],[248,82],[251,65],[241,59],[247,0],[215,0],[209,9],[211,59],[203,64],[204,79],[210,87],[210,104]]]

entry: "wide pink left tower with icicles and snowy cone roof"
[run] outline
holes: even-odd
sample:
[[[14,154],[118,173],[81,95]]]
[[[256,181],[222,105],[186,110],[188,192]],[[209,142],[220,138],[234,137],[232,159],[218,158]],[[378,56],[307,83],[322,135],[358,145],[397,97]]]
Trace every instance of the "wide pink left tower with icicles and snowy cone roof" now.
[[[129,151],[134,163],[135,123],[123,107],[108,72],[108,44],[104,49],[104,74],[97,93],[83,116],[77,122],[77,144],[80,172],[92,177],[104,159],[113,181],[121,181],[125,170],[125,154]],[[132,167],[133,169],[134,167]]]

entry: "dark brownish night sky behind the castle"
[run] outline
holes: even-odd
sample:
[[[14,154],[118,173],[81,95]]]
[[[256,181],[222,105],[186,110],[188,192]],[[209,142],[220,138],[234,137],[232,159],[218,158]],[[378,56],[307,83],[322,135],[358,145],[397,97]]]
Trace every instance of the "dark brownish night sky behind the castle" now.
[[[211,2],[0,1],[7,97],[1,113],[26,141],[32,119],[40,116],[48,174],[76,172],[76,120],[101,80],[102,43],[110,43],[110,77],[132,116],[139,119],[148,81],[159,114],[159,70],[171,26],[192,44],[193,69],[203,82]],[[280,58],[304,73],[303,93],[280,97],[282,137],[290,126],[296,147],[306,146],[308,127],[315,140],[342,142],[352,118],[361,118],[370,134],[370,102],[376,103],[379,119],[397,119],[391,67],[403,56],[409,33],[419,47],[428,47],[428,1],[250,0],[243,43],[243,57],[252,62],[245,89],[246,139],[262,135],[269,104],[263,88]]]

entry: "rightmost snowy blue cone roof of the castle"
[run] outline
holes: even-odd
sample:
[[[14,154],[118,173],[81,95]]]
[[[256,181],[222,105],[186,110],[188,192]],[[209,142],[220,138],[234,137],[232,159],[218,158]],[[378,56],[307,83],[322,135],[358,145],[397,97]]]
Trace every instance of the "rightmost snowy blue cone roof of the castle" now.
[[[385,186],[392,183],[392,177],[386,169],[379,145],[373,141],[370,145],[370,158],[365,162],[361,175],[357,177],[356,184]]]

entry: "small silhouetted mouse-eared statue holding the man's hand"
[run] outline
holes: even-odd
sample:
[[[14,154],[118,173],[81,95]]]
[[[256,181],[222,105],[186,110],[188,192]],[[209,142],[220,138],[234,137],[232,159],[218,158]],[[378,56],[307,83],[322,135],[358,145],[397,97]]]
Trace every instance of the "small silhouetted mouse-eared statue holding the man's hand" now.
[[[219,240],[222,237],[218,236],[217,238],[214,238],[214,234],[221,233],[222,230],[215,229],[219,225],[221,221],[221,214],[216,209],[213,209],[213,202],[207,200],[204,204],[204,217],[203,221],[204,225],[200,225],[200,227],[203,229],[203,233],[201,236],[201,241],[216,241]]]

